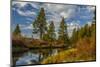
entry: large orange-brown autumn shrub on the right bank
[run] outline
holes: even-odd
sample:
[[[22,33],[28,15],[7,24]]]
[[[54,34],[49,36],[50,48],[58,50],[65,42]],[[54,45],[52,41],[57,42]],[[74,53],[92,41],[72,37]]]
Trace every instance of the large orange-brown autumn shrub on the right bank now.
[[[96,43],[94,37],[80,39],[76,44],[76,48],[78,49],[79,59],[95,60]]]

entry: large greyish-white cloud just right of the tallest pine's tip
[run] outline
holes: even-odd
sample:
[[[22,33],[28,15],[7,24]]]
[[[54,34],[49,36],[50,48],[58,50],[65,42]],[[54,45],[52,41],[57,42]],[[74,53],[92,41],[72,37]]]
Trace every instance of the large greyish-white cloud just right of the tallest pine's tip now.
[[[60,16],[64,18],[68,18],[75,13],[75,8],[77,6],[72,6],[72,5],[63,5],[63,4],[43,4],[42,7],[45,8],[46,11],[51,12],[51,13],[57,13],[60,14]]]

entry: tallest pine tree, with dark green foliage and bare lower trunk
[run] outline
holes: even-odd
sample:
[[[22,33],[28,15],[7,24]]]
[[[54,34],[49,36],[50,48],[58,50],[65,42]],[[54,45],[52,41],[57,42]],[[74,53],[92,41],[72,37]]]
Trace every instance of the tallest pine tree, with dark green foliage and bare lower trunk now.
[[[33,22],[33,33],[39,32],[40,39],[42,39],[46,30],[47,30],[47,22],[45,17],[45,11],[44,8],[41,8],[36,20]]]

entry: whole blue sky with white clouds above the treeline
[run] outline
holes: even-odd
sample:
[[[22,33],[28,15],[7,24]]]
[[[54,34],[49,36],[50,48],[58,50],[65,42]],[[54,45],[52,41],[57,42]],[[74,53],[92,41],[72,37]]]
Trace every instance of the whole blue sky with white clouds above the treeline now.
[[[12,2],[12,20],[11,29],[15,29],[16,24],[20,25],[22,34],[28,37],[32,36],[32,23],[43,7],[46,14],[46,20],[48,24],[50,21],[54,21],[56,33],[59,29],[59,24],[62,17],[65,18],[65,22],[68,25],[69,33],[75,27],[82,27],[85,24],[91,24],[94,17],[94,6],[86,5],[68,5],[68,4],[51,4],[40,2]],[[70,32],[71,31],[71,32]],[[34,35],[34,37],[37,37]]]

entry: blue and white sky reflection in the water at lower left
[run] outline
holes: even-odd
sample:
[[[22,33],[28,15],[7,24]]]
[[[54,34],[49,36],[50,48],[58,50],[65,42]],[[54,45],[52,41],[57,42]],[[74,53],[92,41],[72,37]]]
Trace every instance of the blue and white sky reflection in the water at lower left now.
[[[39,54],[26,52],[23,56],[21,56],[18,61],[16,61],[16,65],[27,65],[27,64],[36,64],[39,62]],[[42,56],[41,56],[42,58]]]

